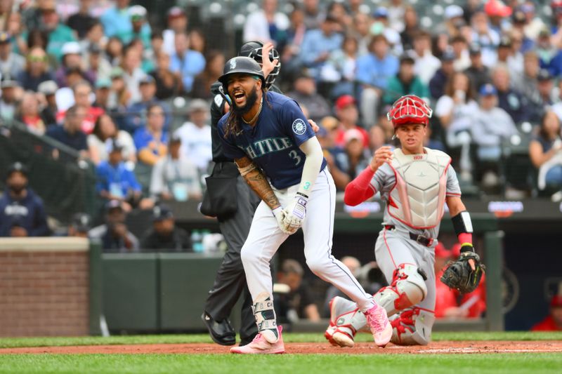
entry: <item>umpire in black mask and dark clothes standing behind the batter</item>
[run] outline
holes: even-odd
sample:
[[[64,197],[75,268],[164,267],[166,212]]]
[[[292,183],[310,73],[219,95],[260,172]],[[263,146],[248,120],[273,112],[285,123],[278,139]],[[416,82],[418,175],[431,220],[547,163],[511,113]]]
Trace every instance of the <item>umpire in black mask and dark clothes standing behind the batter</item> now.
[[[263,44],[259,41],[249,41],[242,45],[239,55],[254,58],[262,65]],[[280,93],[280,90],[273,86],[273,81],[280,72],[279,53],[271,48],[268,53],[270,62],[277,60],[277,65],[273,70],[266,74],[266,88]],[[269,64],[271,67],[271,64]],[[233,310],[237,300],[242,295],[242,324],[240,326],[240,345],[247,345],[258,333],[254,312],[251,310],[252,300],[246,283],[246,274],[242,267],[240,251],[244,241],[248,236],[251,220],[254,212],[261,201],[259,197],[251,191],[250,187],[238,173],[234,160],[229,159],[223,153],[221,139],[218,135],[218,120],[228,113],[230,109],[230,98],[222,91],[222,84],[216,82],[211,86],[211,93],[214,100],[211,104],[211,138],[213,145],[213,161],[215,166],[212,175],[214,177],[231,177],[236,179],[237,211],[234,215],[227,218],[218,216],[218,226],[221,229],[228,250],[224,255],[221,267],[218,269],[213,288],[209,290],[209,296],[205,303],[205,309],[201,316],[209,334],[214,342],[220,345],[235,345],[236,333],[228,317]],[[212,196],[209,196],[212,199]]]

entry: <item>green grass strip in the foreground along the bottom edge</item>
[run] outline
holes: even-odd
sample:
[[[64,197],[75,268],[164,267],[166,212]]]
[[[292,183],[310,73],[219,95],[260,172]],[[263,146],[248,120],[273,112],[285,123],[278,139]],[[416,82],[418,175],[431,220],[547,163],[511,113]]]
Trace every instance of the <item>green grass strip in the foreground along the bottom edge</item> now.
[[[561,354],[271,355],[26,354],[0,373],[560,373]]]

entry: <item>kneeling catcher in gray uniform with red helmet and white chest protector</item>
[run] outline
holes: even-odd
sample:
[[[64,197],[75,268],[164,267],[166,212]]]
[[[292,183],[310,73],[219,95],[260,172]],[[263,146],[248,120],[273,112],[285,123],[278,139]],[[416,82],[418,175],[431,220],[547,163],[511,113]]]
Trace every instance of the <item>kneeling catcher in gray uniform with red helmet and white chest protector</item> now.
[[[391,342],[427,345],[435,321],[434,248],[440,220],[449,208],[462,245],[459,260],[445,270],[443,283],[466,293],[478,286],[483,265],[472,246],[472,223],[460,196],[457,175],[444,152],[425,148],[431,109],[415,95],[396,100],[388,112],[400,148],[381,147],[370,165],[346,187],[345,202],[355,206],[380,192],[386,202],[384,227],[374,247],[390,286],[374,294],[391,320]],[[354,302],[336,296],[330,302],[325,337],[332,345],[353,347],[365,316]]]

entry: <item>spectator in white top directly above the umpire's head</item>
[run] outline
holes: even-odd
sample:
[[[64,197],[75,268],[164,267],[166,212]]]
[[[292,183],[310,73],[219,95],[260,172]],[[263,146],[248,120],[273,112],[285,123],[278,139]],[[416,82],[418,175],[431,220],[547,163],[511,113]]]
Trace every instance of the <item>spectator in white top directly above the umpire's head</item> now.
[[[289,28],[289,18],[285,13],[277,11],[277,0],[262,0],[261,8],[250,13],[244,23],[246,41],[272,42],[274,46],[281,44],[287,38],[286,30]]]

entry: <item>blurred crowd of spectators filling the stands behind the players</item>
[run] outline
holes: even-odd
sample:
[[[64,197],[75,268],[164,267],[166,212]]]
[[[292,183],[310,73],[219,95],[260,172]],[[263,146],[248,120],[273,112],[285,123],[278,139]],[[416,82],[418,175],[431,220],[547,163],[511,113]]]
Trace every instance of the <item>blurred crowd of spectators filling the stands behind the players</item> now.
[[[263,0],[242,41],[279,51],[276,84],[320,125],[339,190],[393,144],[386,109],[414,93],[435,108],[427,146],[453,155],[462,184],[497,191],[502,147],[528,136],[529,187],[561,199],[562,1],[549,17],[532,1],[449,3],[429,25],[402,0]],[[100,199],[125,212],[201,198],[210,87],[231,56],[190,27],[188,8],[159,19],[129,0],[0,4],[3,123],[89,159]]]

